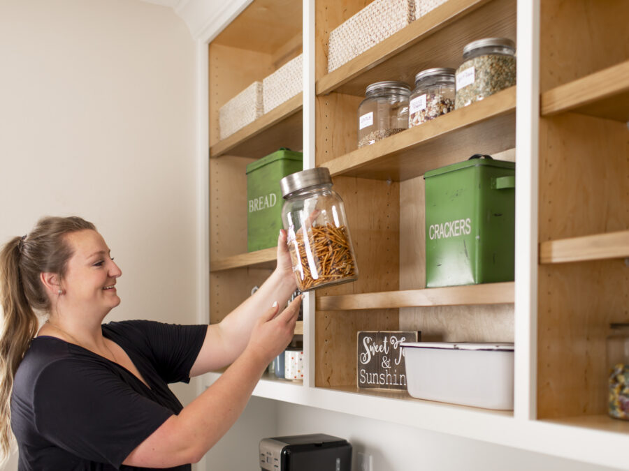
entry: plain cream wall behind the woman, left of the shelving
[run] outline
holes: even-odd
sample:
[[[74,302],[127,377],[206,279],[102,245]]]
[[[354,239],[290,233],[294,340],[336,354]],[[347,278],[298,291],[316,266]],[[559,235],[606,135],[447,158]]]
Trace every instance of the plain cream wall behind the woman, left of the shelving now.
[[[0,244],[91,220],[123,271],[108,320],[196,322],[195,54],[171,8],[0,0]]]

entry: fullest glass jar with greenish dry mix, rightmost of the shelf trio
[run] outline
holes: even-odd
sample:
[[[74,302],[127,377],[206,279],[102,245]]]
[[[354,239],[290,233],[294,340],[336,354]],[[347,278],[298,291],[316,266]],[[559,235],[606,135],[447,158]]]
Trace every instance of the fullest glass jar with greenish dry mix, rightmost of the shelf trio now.
[[[455,109],[475,103],[516,84],[515,43],[485,38],[463,47],[463,63],[456,69]]]

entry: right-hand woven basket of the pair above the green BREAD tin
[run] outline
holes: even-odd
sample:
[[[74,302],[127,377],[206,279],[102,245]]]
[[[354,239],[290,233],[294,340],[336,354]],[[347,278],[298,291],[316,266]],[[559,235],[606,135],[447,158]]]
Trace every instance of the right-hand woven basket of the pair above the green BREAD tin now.
[[[303,91],[303,54],[291,59],[262,80],[262,90],[265,113]]]

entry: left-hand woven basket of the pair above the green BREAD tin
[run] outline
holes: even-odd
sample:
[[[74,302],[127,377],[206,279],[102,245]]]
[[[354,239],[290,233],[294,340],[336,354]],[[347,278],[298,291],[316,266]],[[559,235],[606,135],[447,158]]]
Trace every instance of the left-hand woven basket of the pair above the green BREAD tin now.
[[[229,137],[262,116],[262,82],[253,82],[219,110],[221,139]]]

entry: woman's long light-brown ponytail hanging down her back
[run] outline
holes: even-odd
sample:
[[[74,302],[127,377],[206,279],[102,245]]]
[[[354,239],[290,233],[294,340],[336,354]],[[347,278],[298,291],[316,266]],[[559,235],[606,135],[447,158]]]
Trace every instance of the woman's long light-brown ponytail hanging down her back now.
[[[15,237],[0,252],[0,303],[3,311],[0,333],[0,466],[10,455],[13,377],[38,327],[37,316],[24,296],[20,280],[21,246],[22,237]]]

